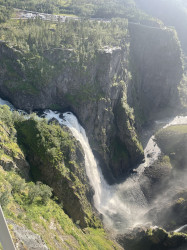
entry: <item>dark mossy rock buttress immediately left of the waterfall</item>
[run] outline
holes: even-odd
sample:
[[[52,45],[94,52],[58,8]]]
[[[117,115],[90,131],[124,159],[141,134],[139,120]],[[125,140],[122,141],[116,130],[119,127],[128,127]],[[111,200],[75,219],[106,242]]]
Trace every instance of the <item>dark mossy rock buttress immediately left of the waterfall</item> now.
[[[64,210],[81,227],[101,226],[90,205],[93,191],[85,172],[84,153],[70,131],[37,118],[17,121],[16,129],[34,179],[53,188]]]

